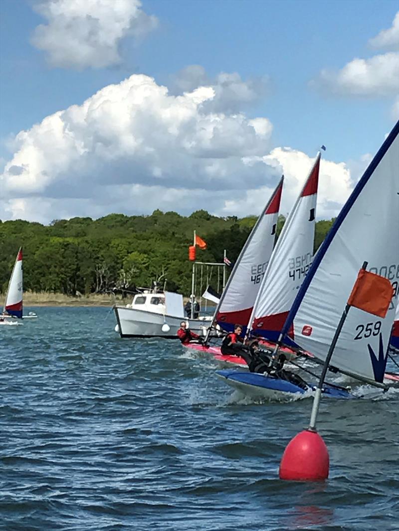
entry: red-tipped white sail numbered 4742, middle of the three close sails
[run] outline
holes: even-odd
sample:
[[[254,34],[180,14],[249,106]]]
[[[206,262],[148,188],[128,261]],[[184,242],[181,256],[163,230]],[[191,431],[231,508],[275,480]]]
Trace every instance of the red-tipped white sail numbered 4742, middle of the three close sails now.
[[[254,305],[253,332],[274,341],[312,263],[319,167],[320,152],[282,228]]]

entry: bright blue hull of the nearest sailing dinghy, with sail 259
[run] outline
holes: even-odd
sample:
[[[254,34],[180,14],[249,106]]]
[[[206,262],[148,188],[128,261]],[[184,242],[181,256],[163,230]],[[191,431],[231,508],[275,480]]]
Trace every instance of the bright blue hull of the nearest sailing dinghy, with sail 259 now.
[[[300,393],[303,395],[306,391],[301,387],[295,386],[291,382],[286,380],[280,380],[278,378],[270,378],[269,376],[263,376],[263,374],[257,374],[253,372],[239,372],[231,369],[225,369],[221,371],[216,371],[217,375],[221,378],[225,378],[229,384],[243,384],[244,386],[250,386],[254,389],[259,390],[270,390],[272,392],[281,392],[281,393]],[[233,387],[235,387],[233,385]],[[315,388],[316,385],[309,383],[310,388]],[[343,390],[336,389],[334,387],[325,387],[323,389],[323,395],[334,397],[334,398],[356,398],[351,393]]]

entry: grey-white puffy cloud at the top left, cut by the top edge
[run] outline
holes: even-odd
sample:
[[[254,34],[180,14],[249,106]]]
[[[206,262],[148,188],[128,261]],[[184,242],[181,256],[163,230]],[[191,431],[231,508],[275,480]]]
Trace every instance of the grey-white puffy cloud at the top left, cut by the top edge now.
[[[157,25],[139,0],[44,0],[34,9],[47,19],[31,43],[46,52],[52,66],[103,68],[120,63],[124,37],[142,38]]]

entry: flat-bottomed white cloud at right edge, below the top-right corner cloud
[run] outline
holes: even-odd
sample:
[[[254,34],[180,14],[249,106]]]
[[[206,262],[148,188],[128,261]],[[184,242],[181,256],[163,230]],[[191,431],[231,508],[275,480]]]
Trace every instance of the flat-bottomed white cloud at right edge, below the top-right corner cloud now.
[[[313,87],[346,96],[390,96],[399,90],[399,55],[355,58],[341,70],[322,70]]]

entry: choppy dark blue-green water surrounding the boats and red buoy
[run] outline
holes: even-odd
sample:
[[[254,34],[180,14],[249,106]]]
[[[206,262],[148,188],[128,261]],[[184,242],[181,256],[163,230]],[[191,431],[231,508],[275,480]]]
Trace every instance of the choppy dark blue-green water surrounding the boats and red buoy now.
[[[281,482],[311,399],[256,404],[175,341],[122,340],[105,308],[0,329],[0,528],[397,529],[399,392],[323,400],[325,483]]]

